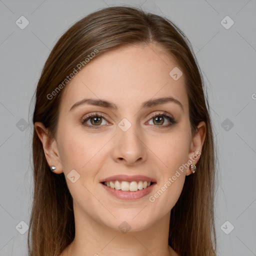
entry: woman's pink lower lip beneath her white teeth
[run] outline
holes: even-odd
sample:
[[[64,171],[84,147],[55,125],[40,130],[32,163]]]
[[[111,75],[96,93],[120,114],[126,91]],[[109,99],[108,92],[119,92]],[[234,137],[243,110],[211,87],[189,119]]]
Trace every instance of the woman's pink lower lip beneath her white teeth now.
[[[103,188],[109,192],[111,195],[115,196],[118,199],[122,200],[136,200],[139,198],[142,198],[143,196],[149,194],[151,190],[153,189],[154,185],[156,183],[153,183],[152,185],[148,186],[147,188],[138,189],[137,191],[122,191],[121,189],[114,189],[111,187],[108,187],[102,183],[100,183]]]

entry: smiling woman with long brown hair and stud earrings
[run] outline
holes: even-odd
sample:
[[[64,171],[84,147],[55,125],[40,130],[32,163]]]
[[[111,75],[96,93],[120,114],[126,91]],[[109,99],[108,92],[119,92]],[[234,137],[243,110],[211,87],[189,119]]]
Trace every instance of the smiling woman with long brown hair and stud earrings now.
[[[216,255],[202,86],[164,17],[115,6],[72,25],[36,88],[29,255]]]

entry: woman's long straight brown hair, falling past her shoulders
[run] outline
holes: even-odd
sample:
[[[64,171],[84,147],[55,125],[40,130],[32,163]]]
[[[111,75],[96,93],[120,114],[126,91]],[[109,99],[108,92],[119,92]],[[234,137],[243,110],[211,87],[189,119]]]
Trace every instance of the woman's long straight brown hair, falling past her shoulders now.
[[[155,42],[172,55],[185,77],[192,135],[200,121],[206,136],[197,171],[186,176],[181,195],[171,210],[169,245],[181,255],[215,256],[213,200],[215,150],[204,83],[191,44],[170,20],[139,8],[114,6],[97,10],[74,23],[51,50],[39,78],[33,124],[40,121],[56,135],[63,81],[91,52],[97,56],[124,44]],[[95,56],[95,58],[97,57]],[[85,63],[84,63],[85,64]],[[85,66],[85,65],[84,65]],[[54,93],[61,84],[61,89]],[[33,129],[34,193],[28,229],[30,256],[59,256],[74,239],[72,196],[64,174],[49,171],[42,143]]]

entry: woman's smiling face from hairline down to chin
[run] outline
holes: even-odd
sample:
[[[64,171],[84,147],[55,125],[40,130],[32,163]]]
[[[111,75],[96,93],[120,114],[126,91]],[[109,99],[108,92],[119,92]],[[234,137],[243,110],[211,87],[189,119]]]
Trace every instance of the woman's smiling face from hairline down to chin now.
[[[49,164],[64,172],[79,218],[135,231],[176,203],[191,174],[184,164],[202,140],[192,140],[184,76],[171,76],[173,68],[174,58],[155,44],[123,46],[90,60],[66,85]],[[156,100],[165,97],[173,99]],[[85,98],[94,104],[77,104]],[[142,188],[145,181],[151,185]]]

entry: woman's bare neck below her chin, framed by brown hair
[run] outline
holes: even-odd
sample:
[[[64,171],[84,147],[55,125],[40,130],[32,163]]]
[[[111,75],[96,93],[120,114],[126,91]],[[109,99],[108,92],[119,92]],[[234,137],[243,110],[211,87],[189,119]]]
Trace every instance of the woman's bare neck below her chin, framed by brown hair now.
[[[81,215],[76,208],[75,238],[61,256],[178,256],[168,246],[169,217],[170,212],[143,230],[125,232],[103,225],[87,215],[84,216],[84,213]]]

